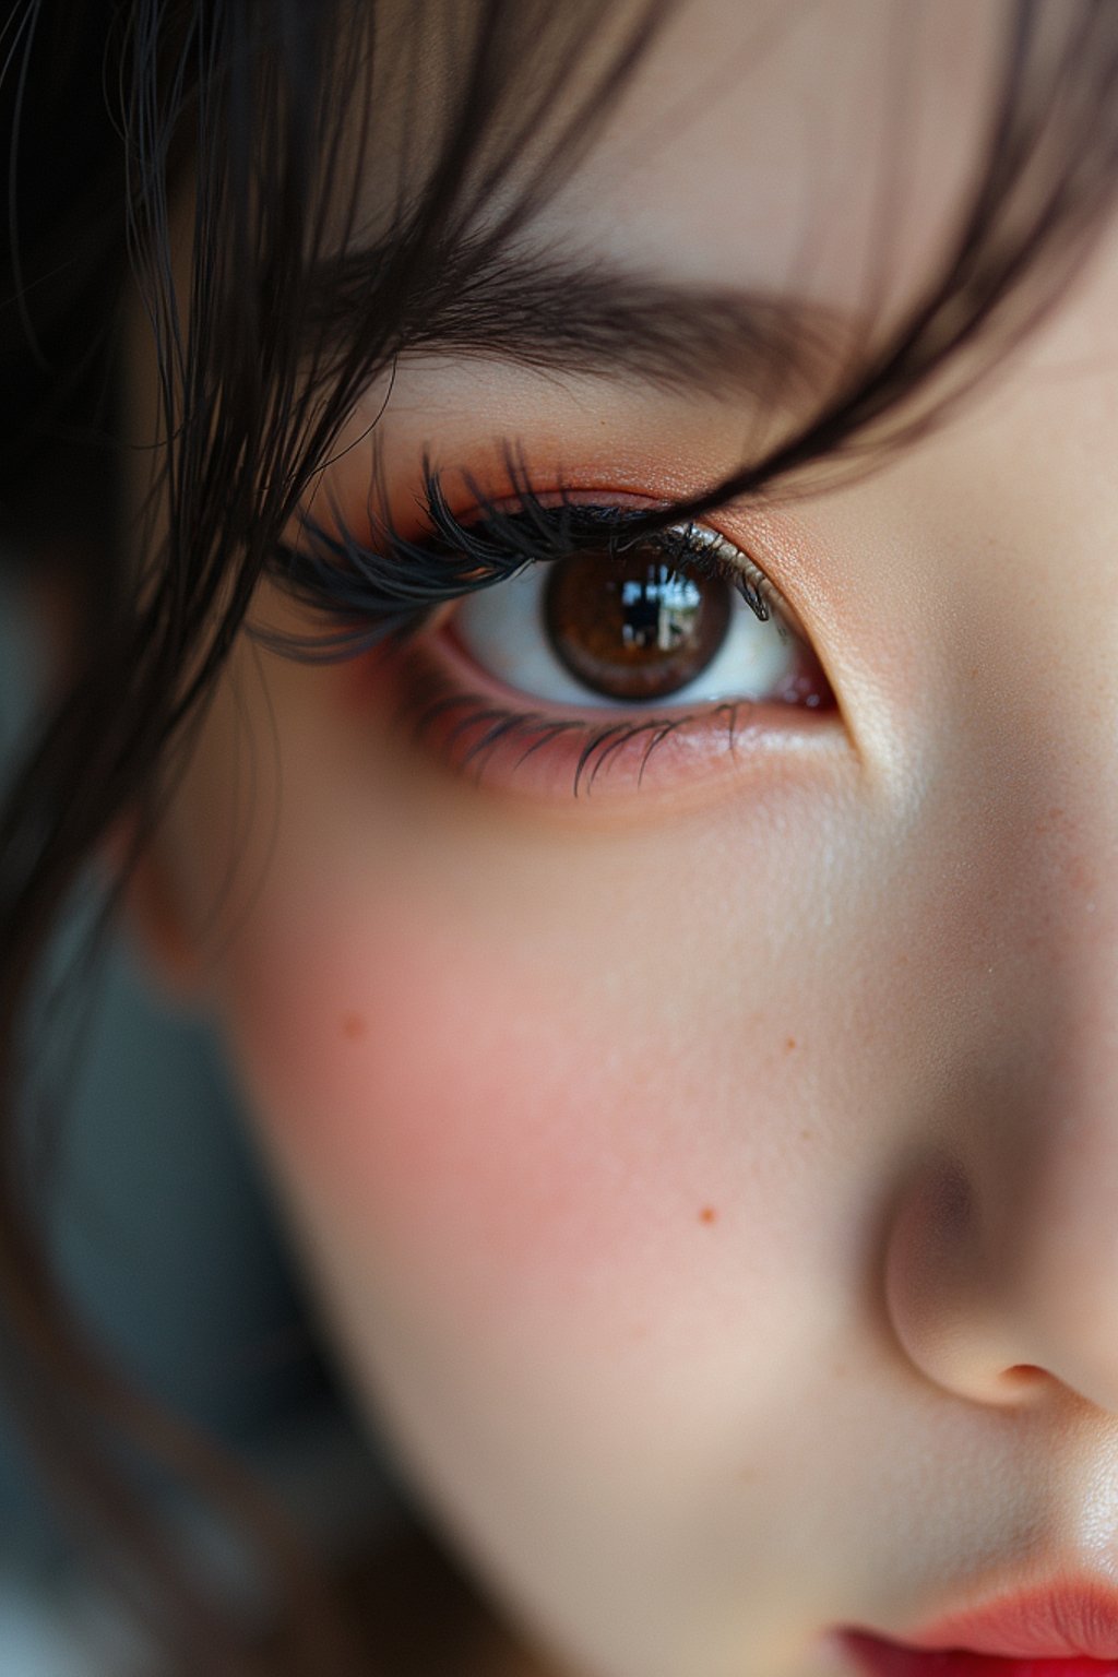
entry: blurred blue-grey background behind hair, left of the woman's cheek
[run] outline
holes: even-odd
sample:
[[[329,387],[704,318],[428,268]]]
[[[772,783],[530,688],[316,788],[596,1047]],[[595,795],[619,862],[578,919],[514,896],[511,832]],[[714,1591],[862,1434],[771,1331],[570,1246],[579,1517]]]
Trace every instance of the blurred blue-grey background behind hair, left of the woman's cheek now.
[[[39,681],[25,600],[0,567],[0,788]],[[62,953],[80,917],[79,902]],[[323,1546],[340,1551],[387,1521],[389,1479],[330,1377],[216,1040],[163,1008],[117,942],[80,1060],[59,1073],[52,1243],[102,1343],[248,1457]],[[126,1648],[50,1518],[0,1389],[0,1677],[121,1677]]]

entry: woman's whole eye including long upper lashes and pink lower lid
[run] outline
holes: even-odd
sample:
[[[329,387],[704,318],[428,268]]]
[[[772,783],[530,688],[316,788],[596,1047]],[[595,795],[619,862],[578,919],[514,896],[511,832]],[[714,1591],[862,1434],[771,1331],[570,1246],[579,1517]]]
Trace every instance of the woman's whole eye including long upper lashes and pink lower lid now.
[[[796,612],[719,532],[526,481],[511,508],[471,481],[484,517],[463,522],[424,483],[421,540],[307,520],[273,572],[329,627],[255,632],[288,657],[357,659],[362,703],[375,694],[439,766],[545,803],[644,792],[647,810],[759,770],[786,741],[800,761],[845,751]]]

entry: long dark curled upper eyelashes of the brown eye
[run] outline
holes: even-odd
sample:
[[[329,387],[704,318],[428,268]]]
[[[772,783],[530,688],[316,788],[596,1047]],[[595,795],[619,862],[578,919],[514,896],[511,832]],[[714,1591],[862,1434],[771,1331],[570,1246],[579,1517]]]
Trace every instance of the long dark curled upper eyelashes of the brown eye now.
[[[339,662],[414,634],[437,605],[506,582],[526,565],[592,547],[615,557],[637,542],[660,547],[681,569],[729,582],[758,619],[788,632],[786,605],[771,579],[716,530],[691,520],[650,530],[647,510],[575,501],[565,490],[550,491],[545,503],[523,468],[513,478],[513,505],[494,503],[466,480],[474,515],[463,523],[439,473],[424,461],[419,506],[431,532],[424,540],[401,537],[389,522],[379,525],[372,545],[359,542],[340,517],[335,535],[307,517],[307,545],[278,543],[268,574],[335,627],[312,636],[253,627],[255,639],[303,662]]]

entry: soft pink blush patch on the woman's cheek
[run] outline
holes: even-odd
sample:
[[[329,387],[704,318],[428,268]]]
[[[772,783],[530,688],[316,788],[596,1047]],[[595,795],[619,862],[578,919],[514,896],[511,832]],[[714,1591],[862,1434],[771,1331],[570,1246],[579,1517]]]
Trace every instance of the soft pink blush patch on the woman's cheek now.
[[[396,1305],[593,1313],[610,1271],[640,1313],[669,1280],[650,1226],[667,1261],[709,1253],[717,1218],[694,1132],[639,1098],[645,1033],[508,949],[422,932],[246,951],[235,1048],[285,1194]]]

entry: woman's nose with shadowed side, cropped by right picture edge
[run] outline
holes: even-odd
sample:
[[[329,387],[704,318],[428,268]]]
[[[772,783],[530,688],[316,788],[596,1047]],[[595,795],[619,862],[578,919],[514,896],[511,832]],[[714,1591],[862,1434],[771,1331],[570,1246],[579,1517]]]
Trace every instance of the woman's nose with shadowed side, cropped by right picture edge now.
[[[893,1337],[970,1402],[1118,1414],[1118,870],[1088,872],[1033,917],[885,1218]]]

